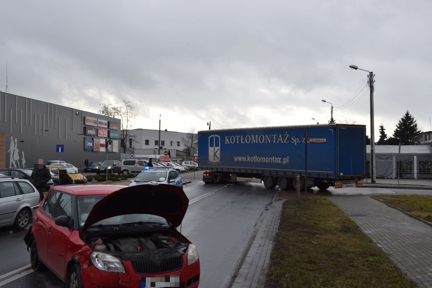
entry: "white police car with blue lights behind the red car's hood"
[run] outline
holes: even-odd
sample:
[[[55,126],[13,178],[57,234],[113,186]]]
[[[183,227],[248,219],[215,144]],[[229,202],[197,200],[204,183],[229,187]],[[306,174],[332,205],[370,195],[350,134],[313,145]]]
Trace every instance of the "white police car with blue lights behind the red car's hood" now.
[[[130,180],[129,186],[135,186],[139,184],[171,184],[183,188],[183,179],[178,175],[177,171],[172,168],[154,168],[142,171],[135,179]]]

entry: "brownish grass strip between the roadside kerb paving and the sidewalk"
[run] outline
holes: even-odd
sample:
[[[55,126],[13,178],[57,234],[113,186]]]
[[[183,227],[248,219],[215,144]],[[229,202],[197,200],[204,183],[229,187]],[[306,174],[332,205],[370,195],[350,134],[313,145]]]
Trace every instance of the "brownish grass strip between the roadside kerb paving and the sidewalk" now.
[[[287,199],[266,287],[417,287],[327,197]]]

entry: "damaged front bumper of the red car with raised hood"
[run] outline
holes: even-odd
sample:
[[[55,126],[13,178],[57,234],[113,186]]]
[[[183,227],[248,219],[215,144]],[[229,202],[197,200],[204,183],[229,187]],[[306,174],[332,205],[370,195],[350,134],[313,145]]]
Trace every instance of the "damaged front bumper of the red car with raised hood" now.
[[[81,270],[81,278],[84,287],[97,288],[97,287],[132,287],[143,288],[146,286],[146,279],[148,281],[171,281],[179,283],[176,287],[182,288],[196,288],[199,284],[200,277],[200,263],[199,259],[188,266],[187,255],[185,256],[184,265],[181,269],[161,273],[161,274],[137,274],[129,261],[122,261],[125,267],[125,273],[105,272],[95,268],[93,265]],[[169,277],[166,277],[169,276]],[[173,287],[173,286],[170,286]]]

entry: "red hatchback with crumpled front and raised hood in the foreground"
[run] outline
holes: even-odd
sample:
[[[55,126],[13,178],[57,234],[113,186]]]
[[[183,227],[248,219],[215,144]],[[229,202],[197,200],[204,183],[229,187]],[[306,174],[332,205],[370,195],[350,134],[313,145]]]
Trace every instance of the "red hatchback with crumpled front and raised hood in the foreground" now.
[[[70,287],[198,287],[198,252],[176,229],[188,204],[169,184],[55,186],[24,237],[31,267]]]

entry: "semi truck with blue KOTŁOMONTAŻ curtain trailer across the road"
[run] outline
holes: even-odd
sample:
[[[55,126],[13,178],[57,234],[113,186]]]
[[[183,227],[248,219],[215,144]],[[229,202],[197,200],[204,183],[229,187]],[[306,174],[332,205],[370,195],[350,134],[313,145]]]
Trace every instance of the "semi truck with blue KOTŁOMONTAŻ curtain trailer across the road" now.
[[[255,182],[282,190],[361,187],[366,176],[366,126],[198,131],[198,167],[204,170],[206,184]]]

